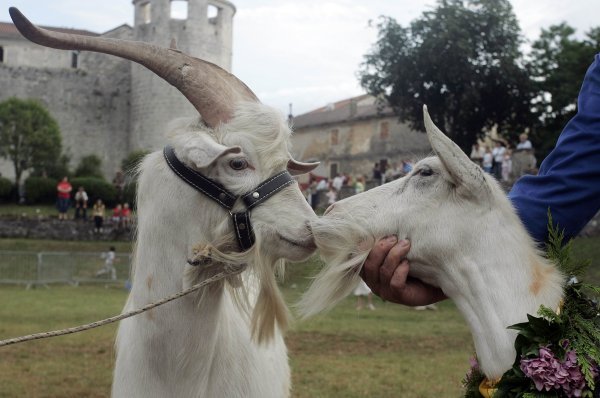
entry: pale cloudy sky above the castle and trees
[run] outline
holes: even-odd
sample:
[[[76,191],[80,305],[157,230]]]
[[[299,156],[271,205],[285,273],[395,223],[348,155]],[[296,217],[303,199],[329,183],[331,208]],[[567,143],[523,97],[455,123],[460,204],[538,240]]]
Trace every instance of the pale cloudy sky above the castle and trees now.
[[[232,0],[234,17],[232,72],[263,103],[294,115],[361,95],[357,71],[377,38],[370,25],[381,15],[407,26],[435,0]],[[35,24],[102,33],[133,26],[131,0],[8,0]],[[522,32],[529,40],[541,28],[567,22],[583,37],[600,26],[600,0],[513,0]],[[600,50],[600,49],[599,49]]]

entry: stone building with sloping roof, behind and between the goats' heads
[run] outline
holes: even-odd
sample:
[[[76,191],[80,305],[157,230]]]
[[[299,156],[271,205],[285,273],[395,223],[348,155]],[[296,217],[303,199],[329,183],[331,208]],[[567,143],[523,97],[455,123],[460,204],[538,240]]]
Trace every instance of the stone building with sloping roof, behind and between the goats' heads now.
[[[425,133],[398,121],[389,107],[362,95],[293,118],[293,155],[320,161],[314,174],[337,173],[372,177],[375,163],[383,167],[418,160],[431,152]]]

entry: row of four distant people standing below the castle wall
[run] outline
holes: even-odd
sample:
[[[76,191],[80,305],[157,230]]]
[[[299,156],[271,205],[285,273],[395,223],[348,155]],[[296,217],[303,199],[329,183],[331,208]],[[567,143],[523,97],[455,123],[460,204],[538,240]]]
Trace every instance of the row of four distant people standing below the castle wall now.
[[[71,206],[71,192],[73,187],[69,182],[68,177],[63,179],[56,186],[57,191],[57,207],[58,207],[58,219],[67,220],[68,211]],[[79,187],[75,195],[73,196],[75,203],[75,220],[87,221],[87,211],[89,196],[85,191],[84,187]],[[131,208],[129,203],[117,204],[110,217],[112,225],[118,229],[129,227],[131,224]],[[104,227],[104,221],[106,219],[106,205],[102,199],[98,198],[92,206],[92,218],[94,220],[94,232],[101,233]]]

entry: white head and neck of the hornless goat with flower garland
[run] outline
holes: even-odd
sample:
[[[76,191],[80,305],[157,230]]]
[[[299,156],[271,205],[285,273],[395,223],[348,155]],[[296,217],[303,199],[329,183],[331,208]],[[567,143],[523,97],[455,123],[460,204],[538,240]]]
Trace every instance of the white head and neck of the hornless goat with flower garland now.
[[[349,294],[376,238],[409,239],[410,275],[454,300],[471,329],[483,372],[496,378],[515,360],[516,332],[507,327],[527,321],[542,304],[557,308],[564,277],[537,251],[496,180],[426,112],[425,118],[437,157],[421,160],[404,178],[335,203],[313,224],[328,265],[300,307],[313,315]],[[360,242],[366,251],[357,249]]]

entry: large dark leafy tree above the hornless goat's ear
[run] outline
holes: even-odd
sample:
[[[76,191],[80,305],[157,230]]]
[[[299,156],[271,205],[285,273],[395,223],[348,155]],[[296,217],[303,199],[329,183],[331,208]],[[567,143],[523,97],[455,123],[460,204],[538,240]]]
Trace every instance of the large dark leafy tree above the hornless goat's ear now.
[[[516,135],[531,114],[520,28],[508,0],[438,0],[410,27],[384,17],[359,71],[401,121],[423,130],[422,106],[464,150],[482,129]]]

